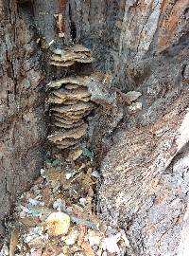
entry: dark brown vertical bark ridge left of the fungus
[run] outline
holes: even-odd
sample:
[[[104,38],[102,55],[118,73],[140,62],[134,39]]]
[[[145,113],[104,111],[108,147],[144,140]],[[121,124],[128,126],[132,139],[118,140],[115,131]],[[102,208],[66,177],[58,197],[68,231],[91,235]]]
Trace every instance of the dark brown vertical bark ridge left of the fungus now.
[[[30,3],[0,1],[0,231],[17,192],[43,165],[46,135],[41,53]]]

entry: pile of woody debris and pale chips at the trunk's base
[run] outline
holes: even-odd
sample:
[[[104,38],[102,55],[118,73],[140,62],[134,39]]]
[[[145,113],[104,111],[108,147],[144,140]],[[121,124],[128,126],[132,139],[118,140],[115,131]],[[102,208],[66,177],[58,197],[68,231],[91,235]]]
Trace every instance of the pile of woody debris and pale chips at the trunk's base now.
[[[76,151],[69,155],[72,164],[46,161],[41,176],[18,198],[0,256],[125,255],[125,231],[108,227],[94,212],[100,174],[93,170],[93,153]]]

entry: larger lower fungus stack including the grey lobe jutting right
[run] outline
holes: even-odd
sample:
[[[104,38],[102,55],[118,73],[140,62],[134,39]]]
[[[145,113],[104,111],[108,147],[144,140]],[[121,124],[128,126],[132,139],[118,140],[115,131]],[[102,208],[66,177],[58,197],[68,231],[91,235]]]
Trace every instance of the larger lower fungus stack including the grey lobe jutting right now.
[[[87,133],[84,118],[96,107],[96,103],[110,106],[115,101],[115,95],[109,93],[110,82],[112,77],[100,72],[95,72],[91,76],[65,77],[49,82],[47,88],[51,91],[48,102],[52,104],[50,112],[53,124],[60,132],[48,139],[60,149],[76,145]],[[78,132],[79,129],[83,131],[84,124],[85,134],[81,133],[80,137],[69,137],[69,139],[63,137]]]

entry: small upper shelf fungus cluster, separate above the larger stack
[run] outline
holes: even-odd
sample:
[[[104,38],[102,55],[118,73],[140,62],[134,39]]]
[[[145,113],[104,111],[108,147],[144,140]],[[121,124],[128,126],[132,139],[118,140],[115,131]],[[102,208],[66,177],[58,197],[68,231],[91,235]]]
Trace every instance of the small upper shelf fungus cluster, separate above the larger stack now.
[[[70,66],[76,63],[91,64],[93,57],[91,50],[85,46],[75,45],[63,49],[53,49],[50,64],[57,66]]]

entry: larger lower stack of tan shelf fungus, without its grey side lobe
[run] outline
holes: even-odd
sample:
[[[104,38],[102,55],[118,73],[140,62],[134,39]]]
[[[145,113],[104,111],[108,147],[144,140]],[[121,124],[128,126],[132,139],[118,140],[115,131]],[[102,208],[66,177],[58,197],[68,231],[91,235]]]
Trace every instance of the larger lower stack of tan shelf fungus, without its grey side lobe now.
[[[77,145],[87,134],[87,123],[84,119],[94,109],[91,93],[82,77],[68,77],[48,83],[51,88],[52,121],[56,132],[48,139],[59,149]]]

